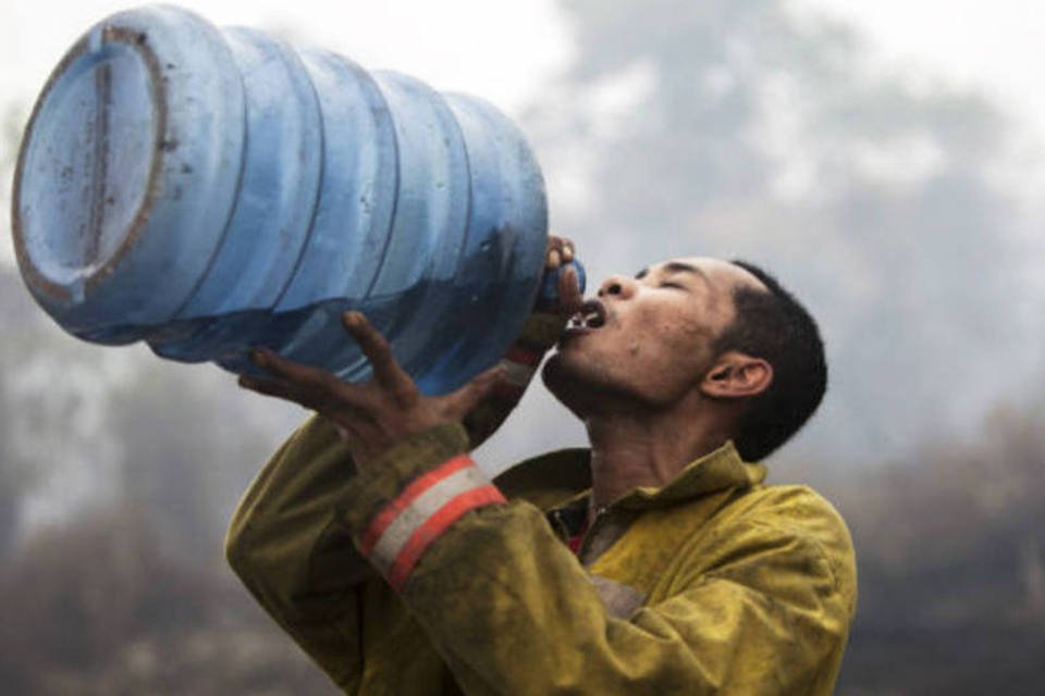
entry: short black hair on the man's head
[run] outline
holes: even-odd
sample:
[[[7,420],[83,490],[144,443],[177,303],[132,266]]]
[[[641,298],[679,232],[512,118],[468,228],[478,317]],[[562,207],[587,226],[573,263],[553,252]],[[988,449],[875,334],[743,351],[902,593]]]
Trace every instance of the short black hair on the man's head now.
[[[736,316],[715,340],[716,355],[737,350],[773,366],[773,381],[752,397],[734,431],[746,461],[767,457],[804,425],[827,388],[827,361],[820,330],[810,313],[772,275],[733,260],[765,285],[734,289]]]

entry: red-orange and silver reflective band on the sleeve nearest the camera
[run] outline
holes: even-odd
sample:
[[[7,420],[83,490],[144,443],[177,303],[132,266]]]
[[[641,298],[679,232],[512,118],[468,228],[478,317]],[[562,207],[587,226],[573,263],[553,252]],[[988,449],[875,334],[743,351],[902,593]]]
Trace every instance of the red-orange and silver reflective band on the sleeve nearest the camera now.
[[[421,554],[463,514],[505,502],[468,455],[458,455],[410,483],[359,537],[359,550],[399,589]]]

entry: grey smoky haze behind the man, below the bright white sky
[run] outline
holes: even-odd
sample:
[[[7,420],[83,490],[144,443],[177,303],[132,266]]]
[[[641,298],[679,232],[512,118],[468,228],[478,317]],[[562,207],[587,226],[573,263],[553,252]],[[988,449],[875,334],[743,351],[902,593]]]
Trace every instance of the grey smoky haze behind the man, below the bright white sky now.
[[[767,463],[853,533],[838,693],[1038,693],[1043,133],[985,91],[871,60],[857,27],[794,3],[557,8],[568,54],[511,113],[592,283],[743,258],[821,323],[827,397]],[[310,42],[292,17],[260,28]],[[8,209],[30,105],[0,104]],[[217,368],[77,341],[10,259],[0,325],[4,692],[333,693],[222,558],[238,496],[306,413]],[[582,442],[533,385],[477,458],[495,472]]]

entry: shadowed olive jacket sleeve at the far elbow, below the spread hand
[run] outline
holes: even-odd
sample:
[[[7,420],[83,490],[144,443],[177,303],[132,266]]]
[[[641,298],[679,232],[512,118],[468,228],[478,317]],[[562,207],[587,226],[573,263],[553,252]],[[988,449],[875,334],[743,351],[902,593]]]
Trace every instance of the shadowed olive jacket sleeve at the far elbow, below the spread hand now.
[[[225,539],[244,585],[347,693],[361,670],[360,584],[373,577],[341,521],[354,476],[336,431],[312,417],[255,478]]]

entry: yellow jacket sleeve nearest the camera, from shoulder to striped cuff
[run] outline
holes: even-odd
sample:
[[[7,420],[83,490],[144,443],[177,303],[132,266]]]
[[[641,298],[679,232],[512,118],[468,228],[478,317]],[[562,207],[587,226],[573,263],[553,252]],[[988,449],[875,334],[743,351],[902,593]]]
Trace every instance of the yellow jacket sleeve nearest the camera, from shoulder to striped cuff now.
[[[829,693],[850,607],[800,531],[721,530],[625,621],[529,504],[477,496],[477,477],[429,493],[460,474],[430,447],[445,433],[427,437],[354,482],[347,521],[466,694]]]

